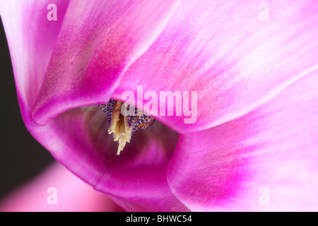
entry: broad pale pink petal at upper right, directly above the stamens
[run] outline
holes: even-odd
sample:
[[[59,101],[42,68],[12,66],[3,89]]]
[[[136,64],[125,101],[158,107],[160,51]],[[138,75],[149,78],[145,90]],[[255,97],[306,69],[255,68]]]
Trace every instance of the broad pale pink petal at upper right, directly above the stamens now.
[[[197,91],[193,124],[184,123],[184,114],[157,117],[179,133],[216,126],[266,102],[317,69],[318,2],[266,3],[268,21],[260,20],[264,1],[182,1],[112,97],[126,90],[137,95],[137,85],[158,95]]]

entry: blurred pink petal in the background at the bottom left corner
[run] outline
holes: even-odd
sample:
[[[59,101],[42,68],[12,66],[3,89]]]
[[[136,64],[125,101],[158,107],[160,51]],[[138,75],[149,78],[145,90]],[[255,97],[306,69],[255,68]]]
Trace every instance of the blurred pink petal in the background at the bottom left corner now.
[[[120,210],[105,194],[94,191],[58,164],[50,166],[33,181],[14,191],[0,206],[1,212]]]

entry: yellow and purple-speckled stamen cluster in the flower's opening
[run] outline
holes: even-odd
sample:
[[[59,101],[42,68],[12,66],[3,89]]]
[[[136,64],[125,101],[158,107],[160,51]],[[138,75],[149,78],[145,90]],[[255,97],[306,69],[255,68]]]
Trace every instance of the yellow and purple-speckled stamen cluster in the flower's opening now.
[[[134,131],[147,129],[155,119],[148,114],[136,109],[133,105],[110,100],[107,104],[100,105],[102,112],[107,114],[108,133],[113,133],[114,141],[118,141],[117,155],[130,142]]]

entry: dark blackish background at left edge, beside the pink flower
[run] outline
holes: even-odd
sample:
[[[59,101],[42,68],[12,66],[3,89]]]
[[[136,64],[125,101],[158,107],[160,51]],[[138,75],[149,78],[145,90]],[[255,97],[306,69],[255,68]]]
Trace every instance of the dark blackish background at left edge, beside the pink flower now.
[[[20,114],[6,35],[0,19],[0,203],[53,162],[26,129]]]

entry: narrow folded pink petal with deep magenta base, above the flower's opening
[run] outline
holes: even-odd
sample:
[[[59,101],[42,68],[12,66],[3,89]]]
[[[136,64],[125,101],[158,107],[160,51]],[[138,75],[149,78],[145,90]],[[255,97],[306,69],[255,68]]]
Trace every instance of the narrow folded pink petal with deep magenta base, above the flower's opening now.
[[[122,74],[165,27],[179,0],[71,1],[33,119],[105,103]]]

